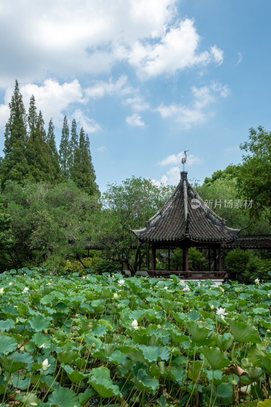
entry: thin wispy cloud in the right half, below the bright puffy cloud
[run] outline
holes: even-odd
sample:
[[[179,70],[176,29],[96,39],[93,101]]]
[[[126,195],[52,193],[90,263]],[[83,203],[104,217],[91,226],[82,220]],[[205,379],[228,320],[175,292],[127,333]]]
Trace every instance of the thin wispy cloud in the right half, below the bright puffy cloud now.
[[[227,97],[230,94],[230,89],[227,85],[212,83],[201,88],[193,86],[192,93],[194,103],[191,106],[175,103],[165,106],[161,103],[156,110],[163,119],[173,118],[177,123],[184,125],[185,128],[190,128],[192,124],[203,123],[208,115],[213,115],[213,112],[208,112],[208,105],[217,101],[217,95],[223,98]]]

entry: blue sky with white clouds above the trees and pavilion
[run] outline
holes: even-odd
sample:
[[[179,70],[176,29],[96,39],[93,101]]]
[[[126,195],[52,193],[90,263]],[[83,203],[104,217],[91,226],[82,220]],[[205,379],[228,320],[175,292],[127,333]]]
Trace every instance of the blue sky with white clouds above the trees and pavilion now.
[[[59,146],[91,142],[97,184],[176,185],[242,161],[271,130],[269,0],[0,0],[0,151],[15,80]],[[3,155],[3,153],[0,153]]]

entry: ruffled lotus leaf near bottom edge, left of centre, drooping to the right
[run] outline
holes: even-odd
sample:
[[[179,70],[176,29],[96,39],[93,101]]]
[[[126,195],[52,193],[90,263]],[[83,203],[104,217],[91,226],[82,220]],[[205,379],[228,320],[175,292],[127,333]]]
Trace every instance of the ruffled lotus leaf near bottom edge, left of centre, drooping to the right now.
[[[101,397],[122,397],[119,387],[114,385],[110,379],[110,370],[107,369],[107,367],[96,367],[92,369],[92,374],[88,383],[95,388]]]

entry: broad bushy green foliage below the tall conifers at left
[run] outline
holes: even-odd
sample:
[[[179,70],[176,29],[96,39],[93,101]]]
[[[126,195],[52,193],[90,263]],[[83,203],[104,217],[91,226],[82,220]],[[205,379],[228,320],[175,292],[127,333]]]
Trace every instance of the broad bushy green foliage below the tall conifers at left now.
[[[47,184],[7,183],[3,193],[11,216],[14,245],[6,250],[11,264],[40,261],[57,269],[70,255],[80,256],[89,241],[97,201],[71,181]]]

